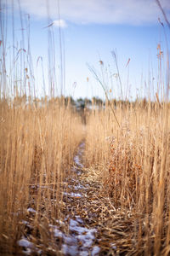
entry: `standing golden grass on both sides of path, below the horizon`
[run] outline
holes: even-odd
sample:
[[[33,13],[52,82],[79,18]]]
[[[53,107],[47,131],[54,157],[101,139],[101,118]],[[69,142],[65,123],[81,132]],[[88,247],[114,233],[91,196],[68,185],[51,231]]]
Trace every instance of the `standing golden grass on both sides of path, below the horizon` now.
[[[55,244],[48,224],[65,218],[65,178],[71,176],[74,155],[84,141],[89,175],[93,169],[100,179],[99,191],[113,200],[115,217],[131,219],[126,252],[168,255],[168,103],[117,105],[120,128],[110,106],[86,111],[84,126],[80,113],[63,99],[38,104],[20,98],[1,101],[1,252],[20,252],[17,241],[29,236],[24,225],[28,219],[33,225],[31,241],[44,246],[51,239]]]

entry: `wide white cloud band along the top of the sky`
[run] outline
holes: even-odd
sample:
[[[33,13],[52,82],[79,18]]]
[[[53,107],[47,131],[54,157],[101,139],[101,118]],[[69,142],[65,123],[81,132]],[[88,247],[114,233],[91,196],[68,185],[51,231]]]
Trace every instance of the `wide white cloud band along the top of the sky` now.
[[[7,0],[7,2],[11,1]],[[170,1],[160,0],[160,2],[169,15]],[[17,5],[17,1],[14,3]],[[155,0],[60,0],[59,10],[57,0],[48,0],[48,4],[46,0],[20,0],[20,5],[27,13],[38,17],[45,17],[49,12],[54,20],[58,20],[60,15],[63,21],[68,20],[78,24],[141,25],[156,23],[158,17],[161,17],[161,11]]]

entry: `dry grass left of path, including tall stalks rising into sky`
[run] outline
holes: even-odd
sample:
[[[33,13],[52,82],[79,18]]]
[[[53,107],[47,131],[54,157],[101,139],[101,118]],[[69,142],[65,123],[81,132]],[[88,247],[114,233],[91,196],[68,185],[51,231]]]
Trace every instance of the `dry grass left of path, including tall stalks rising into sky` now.
[[[67,101],[63,96],[54,98],[59,91],[60,95],[64,92],[61,80],[65,78],[61,71],[60,84],[56,83],[59,63],[52,43],[53,30],[48,28],[48,71],[44,72],[41,56],[37,63],[32,61],[30,15],[19,12],[18,35],[15,3],[12,3],[11,23],[7,22],[8,4],[2,4],[0,254],[20,255],[19,241],[23,237],[37,247],[41,245],[43,252],[53,254],[58,252],[58,245],[49,224],[60,218],[65,176],[70,174],[73,156],[84,138],[84,127],[68,98]],[[18,5],[20,9],[20,1]],[[63,63],[60,66],[62,70]],[[48,79],[44,79],[46,74]]]

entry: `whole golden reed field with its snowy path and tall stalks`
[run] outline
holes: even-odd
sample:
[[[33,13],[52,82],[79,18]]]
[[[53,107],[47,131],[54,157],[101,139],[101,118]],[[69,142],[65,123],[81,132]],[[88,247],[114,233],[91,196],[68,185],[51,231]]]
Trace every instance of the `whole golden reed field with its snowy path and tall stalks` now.
[[[53,74],[49,96],[38,96],[29,36],[28,49],[10,52],[0,23],[0,254],[170,255],[169,58],[163,69],[161,45],[152,101],[110,99],[91,69],[105,101],[80,110],[54,96]]]

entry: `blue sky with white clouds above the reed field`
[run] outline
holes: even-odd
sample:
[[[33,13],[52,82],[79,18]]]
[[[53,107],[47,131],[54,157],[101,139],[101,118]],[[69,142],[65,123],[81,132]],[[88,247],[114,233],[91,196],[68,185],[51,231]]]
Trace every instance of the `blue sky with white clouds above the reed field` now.
[[[11,3],[11,1],[5,3],[8,7],[8,45],[13,44],[11,43],[12,32],[10,32]],[[170,1],[160,0],[160,3],[170,20]],[[31,20],[31,56],[37,95],[42,95],[40,61],[37,65],[39,56],[42,56],[46,79],[45,90],[48,94],[48,47],[50,55],[55,56],[55,62],[51,63],[51,67],[55,69],[54,81],[58,93],[60,93],[61,80],[64,80],[65,89],[63,90],[66,96],[105,97],[102,88],[94,79],[94,74],[88,69],[90,66],[98,73],[99,79],[104,79],[105,87],[111,90],[111,97],[121,96],[120,84],[116,76],[116,63],[111,55],[112,50],[116,51],[123,98],[148,95],[149,81],[151,90],[155,88],[154,93],[156,92],[158,44],[161,44],[164,59],[166,59],[165,37],[158,18],[164,24],[165,21],[156,1],[60,0],[57,2],[49,0],[47,4],[42,0],[20,0],[20,6],[23,20],[26,20],[26,14],[30,15]],[[53,25],[47,27],[50,24]],[[59,26],[62,55],[59,47]],[[20,28],[18,3],[14,1],[14,44],[17,44],[17,41],[20,42]],[[23,28],[26,28],[25,22]],[[54,33],[54,53],[52,44],[48,44],[48,35],[52,32]],[[23,33],[26,38],[26,30]],[[166,33],[169,38],[168,28]],[[25,45],[20,43],[25,49],[26,42],[25,40]],[[100,65],[100,60],[104,65]],[[61,72],[61,66],[63,72]],[[61,79],[61,76],[64,78]]]

